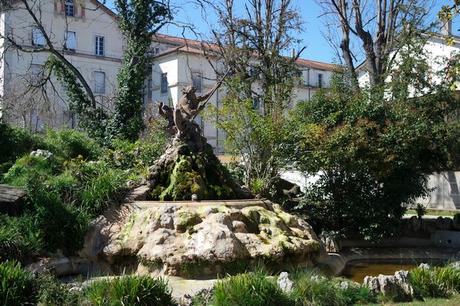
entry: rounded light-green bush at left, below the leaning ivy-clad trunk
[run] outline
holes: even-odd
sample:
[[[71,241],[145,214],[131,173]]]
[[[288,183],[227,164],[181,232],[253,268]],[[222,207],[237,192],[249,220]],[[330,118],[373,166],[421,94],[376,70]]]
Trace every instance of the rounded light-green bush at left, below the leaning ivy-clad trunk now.
[[[96,141],[85,133],[71,129],[47,130],[44,147],[65,160],[78,156],[94,160],[102,154],[102,148]]]

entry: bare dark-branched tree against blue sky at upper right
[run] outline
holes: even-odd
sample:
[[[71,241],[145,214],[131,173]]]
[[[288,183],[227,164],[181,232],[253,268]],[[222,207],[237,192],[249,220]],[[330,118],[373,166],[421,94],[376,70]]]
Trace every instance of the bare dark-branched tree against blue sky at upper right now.
[[[340,28],[343,62],[358,88],[360,54],[370,86],[384,82],[398,51],[417,33],[426,30],[425,0],[319,0],[332,26]],[[353,48],[356,41],[359,48]]]

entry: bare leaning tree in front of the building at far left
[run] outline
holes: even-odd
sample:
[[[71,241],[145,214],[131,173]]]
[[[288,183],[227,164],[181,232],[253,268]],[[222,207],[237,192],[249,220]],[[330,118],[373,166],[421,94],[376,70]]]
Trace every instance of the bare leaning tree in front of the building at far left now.
[[[17,63],[15,65],[22,67],[20,70],[24,73],[24,76],[18,76],[16,74],[20,73],[20,70],[15,69],[15,75],[11,75],[8,82],[4,80],[8,86],[7,92],[2,97],[5,102],[5,113],[6,116],[10,117],[20,115],[24,127],[31,127],[31,130],[35,130],[34,124],[26,124],[25,122],[35,120],[32,117],[38,118],[38,114],[41,118],[48,116],[47,119],[50,122],[58,121],[55,112],[57,105],[54,102],[60,101],[59,104],[65,108],[70,107],[71,111],[67,111],[65,108],[63,111],[67,114],[67,119],[72,121],[72,126],[74,126],[72,110],[74,110],[73,106],[77,104],[84,104],[84,107],[88,108],[88,114],[102,112],[101,105],[96,100],[88,81],[67,57],[68,54],[71,54],[71,51],[67,49],[68,37],[65,36],[62,39],[56,35],[52,23],[46,17],[46,12],[50,10],[50,7],[51,9],[53,7],[51,1],[0,1],[0,11],[5,13],[5,16],[10,16],[5,18],[5,29],[0,33],[2,56],[10,55],[8,60],[4,60],[3,63],[8,66],[12,56],[16,55]],[[87,9],[83,5],[80,8],[82,13]],[[14,19],[11,16],[14,16]],[[69,20],[64,14],[65,31],[68,25]],[[31,34],[32,43],[30,42]],[[40,42],[37,43],[36,39],[39,39]],[[40,64],[37,65],[37,61],[34,64],[34,59],[38,59]],[[36,71],[36,67],[33,69],[33,66],[40,66],[40,71]],[[80,98],[84,100],[83,102],[70,101],[72,94],[68,92],[69,84],[56,83],[55,76],[59,75],[59,70],[65,71],[61,74],[70,77],[69,79],[75,83],[74,87],[80,89]],[[60,94],[62,87],[67,94],[66,97],[62,97]],[[8,101],[11,102],[8,103]],[[24,115],[27,112],[30,113],[28,120],[25,119]],[[84,116],[80,117],[84,120]],[[57,125],[62,123],[57,123]]]

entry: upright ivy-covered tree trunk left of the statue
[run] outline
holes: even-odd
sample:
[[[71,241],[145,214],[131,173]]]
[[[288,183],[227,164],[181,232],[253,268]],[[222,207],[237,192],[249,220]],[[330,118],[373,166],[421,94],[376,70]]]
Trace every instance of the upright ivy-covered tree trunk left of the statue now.
[[[152,64],[152,36],[171,19],[171,12],[166,1],[116,0],[115,7],[127,44],[109,133],[111,137],[136,140],[143,128],[142,88]]]

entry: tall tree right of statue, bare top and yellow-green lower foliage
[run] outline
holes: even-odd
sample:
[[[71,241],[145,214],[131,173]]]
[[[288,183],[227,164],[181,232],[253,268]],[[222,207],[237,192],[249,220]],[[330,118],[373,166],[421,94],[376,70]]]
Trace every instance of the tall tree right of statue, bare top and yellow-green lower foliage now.
[[[204,46],[216,72],[230,68],[226,98],[210,116],[225,131],[227,149],[244,162],[244,183],[266,193],[278,176],[279,147],[285,118],[297,80],[296,60],[284,56],[297,44],[298,12],[290,0],[248,0],[239,13],[235,1],[197,0],[218,16],[214,44]],[[223,65],[222,65],[223,64]],[[220,69],[219,69],[220,68]]]

